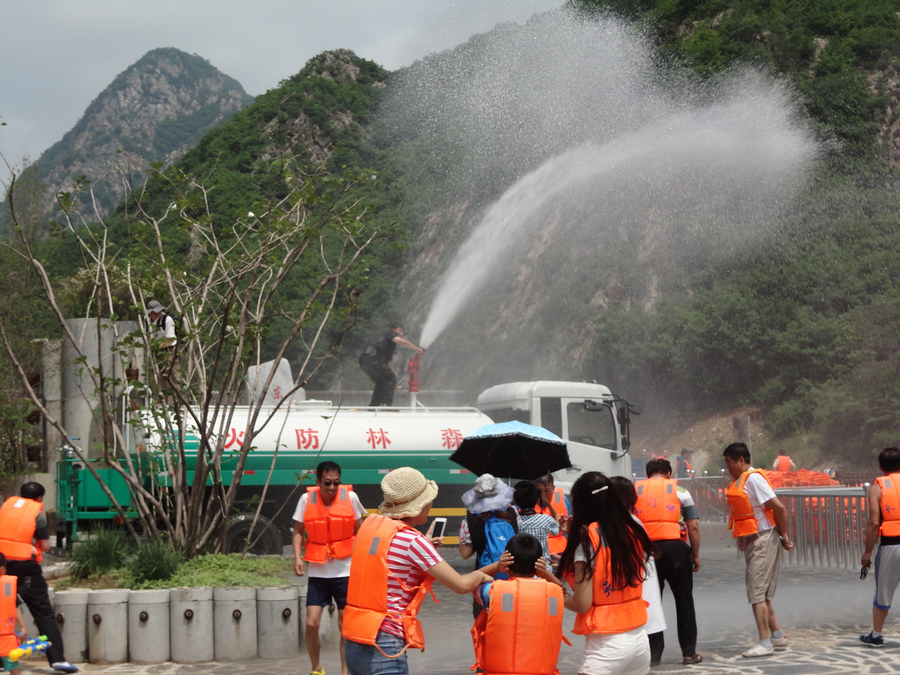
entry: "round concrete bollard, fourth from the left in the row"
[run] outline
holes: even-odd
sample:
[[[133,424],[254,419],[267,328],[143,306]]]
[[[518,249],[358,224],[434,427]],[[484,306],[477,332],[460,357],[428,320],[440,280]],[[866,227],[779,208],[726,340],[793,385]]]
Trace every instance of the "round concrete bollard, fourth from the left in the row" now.
[[[172,661],[204,663],[215,658],[213,589],[173,588],[169,594]]]

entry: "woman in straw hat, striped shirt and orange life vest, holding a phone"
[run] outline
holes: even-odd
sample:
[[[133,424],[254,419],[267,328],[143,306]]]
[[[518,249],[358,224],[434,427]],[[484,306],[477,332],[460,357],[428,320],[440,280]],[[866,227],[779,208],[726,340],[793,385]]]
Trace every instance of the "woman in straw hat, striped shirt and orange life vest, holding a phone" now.
[[[438,488],[405,466],[381,481],[379,514],[366,518],[353,547],[341,634],[351,675],[407,675],[406,650],[424,649],[419,607],[435,580],[454,593],[490,581],[483,572],[459,574],[415,528],[428,521]]]

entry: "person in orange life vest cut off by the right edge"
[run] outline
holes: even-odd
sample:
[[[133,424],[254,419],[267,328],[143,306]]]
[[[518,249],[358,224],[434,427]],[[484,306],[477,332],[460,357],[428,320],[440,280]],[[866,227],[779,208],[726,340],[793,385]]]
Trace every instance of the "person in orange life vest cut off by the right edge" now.
[[[862,565],[872,564],[872,549],[878,538],[875,556],[875,599],[872,602],[872,631],[860,635],[869,647],[883,647],[881,631],[891,609],[894,591],[900,584],[900,449],[885,448],[878,455],[878,467],[884,476],[869,488],[869,519]]]

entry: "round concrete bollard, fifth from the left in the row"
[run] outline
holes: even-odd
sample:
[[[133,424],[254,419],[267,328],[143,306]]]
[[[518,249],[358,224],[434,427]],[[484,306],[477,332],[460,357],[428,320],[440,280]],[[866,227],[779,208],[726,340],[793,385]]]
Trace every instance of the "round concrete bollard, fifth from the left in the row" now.
[[[257,658],[255,588],[213,589],[213,633],[216,661]]]

